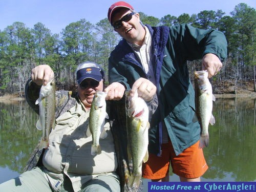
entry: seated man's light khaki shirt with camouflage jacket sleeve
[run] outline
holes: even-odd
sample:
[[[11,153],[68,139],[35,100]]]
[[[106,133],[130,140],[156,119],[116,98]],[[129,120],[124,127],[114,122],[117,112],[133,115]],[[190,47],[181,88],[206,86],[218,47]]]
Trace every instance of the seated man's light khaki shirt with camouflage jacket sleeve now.
[[[36,112],[38,106],[34,103],[39,90],[39,86],[28,81],[26,99]],[[86,135],[89,115],[90,111],[84,110],[77,97],[71,97],[68,91],[57,91],[56,126],[49,135],[49,147],[46,150],[36,148],[26,170],[35,165],[41,166],[55,191],[65,176],[70,178],[74,191],[81,190],[83,184],[101,174],[112,175],[118,179],[115,173],[117,157],[110,124],[106,122],[104,125],[108,136],[100,140],[101,154],[92,156],[92,136]]]

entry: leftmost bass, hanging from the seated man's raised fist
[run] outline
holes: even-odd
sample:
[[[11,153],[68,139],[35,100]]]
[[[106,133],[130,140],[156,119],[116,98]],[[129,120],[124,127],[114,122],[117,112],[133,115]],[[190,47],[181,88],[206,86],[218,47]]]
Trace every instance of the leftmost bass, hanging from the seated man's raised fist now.
[[[39,149],[47,148],[49,145],[49,134],[51,128],[55,128],[55,79],[49,80],[46,86],[42,86],[39,98],[35,104],[39,104],[39,119],[36,128],[42,130]]]

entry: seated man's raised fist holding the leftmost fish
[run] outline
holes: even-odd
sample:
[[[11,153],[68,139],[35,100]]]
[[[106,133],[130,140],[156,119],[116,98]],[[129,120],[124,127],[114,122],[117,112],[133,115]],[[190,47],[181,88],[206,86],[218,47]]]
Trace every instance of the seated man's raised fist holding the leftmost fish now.
[[[31,70],[31,78],[38,86],[46,86],[49,79],[54,78],[54,72],[48,65],[39,65]]]

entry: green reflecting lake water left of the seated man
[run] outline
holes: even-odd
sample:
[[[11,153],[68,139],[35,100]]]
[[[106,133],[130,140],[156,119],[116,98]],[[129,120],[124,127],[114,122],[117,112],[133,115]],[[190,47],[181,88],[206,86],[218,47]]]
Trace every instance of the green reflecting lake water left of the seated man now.
[[[0,102],[0,167],[22,173],[41,135],[37,119],[25,100]]]

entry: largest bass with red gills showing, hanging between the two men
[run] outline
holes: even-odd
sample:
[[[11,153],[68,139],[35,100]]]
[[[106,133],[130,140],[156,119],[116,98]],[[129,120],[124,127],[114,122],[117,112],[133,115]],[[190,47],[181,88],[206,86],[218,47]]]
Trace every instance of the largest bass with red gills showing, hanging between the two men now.
[[[127,113],[127,138],[128,138],[128,159],[133,164],[132,173],[128,181],[128,187],[139,188],[142,175],[142,162],[148,160],[148,108],[145,101],[138,97],[136,92],[131,96],[131,92],[125,97]]]

